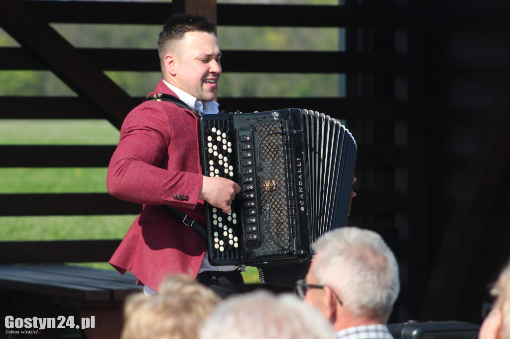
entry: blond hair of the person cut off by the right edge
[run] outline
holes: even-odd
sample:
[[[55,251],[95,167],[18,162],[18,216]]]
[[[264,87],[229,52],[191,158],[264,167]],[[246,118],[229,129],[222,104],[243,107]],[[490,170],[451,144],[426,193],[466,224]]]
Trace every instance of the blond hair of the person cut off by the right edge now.
[[[510,263],[499,274],[496,284],[491,289],[491,295],[496,298],[494,308],[501,309],[503,315],[499,337],[510,339]]]

